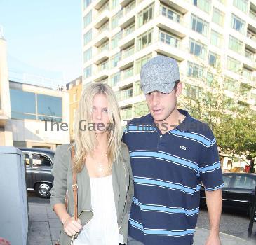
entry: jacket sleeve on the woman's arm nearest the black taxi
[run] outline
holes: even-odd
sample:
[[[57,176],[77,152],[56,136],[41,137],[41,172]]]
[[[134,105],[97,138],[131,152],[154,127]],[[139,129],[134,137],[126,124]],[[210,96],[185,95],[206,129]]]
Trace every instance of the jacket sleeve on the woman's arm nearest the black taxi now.
[[[53,188],[50,193],[50,205],[53,208],[55,204],[65,204],[65,195],[67,191],[67,154],[64,146],[57,146],[53,158],[53,169],[51,174],[54,177]]]

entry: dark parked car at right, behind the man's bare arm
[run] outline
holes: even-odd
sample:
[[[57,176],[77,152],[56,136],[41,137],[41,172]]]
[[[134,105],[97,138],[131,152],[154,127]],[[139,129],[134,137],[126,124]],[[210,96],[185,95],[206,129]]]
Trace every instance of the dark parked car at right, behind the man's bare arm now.
[[[224,208],[234,208],[251,213],[252,200],[255,195],[256,174],[224,173],[222,198]],[[206,205],[206,195],[203,186],[200,191],[201,205]]]

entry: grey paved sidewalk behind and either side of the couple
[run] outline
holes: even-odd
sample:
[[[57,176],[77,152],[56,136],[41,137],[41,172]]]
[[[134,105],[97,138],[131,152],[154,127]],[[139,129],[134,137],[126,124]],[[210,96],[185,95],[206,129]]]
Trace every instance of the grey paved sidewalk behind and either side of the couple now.
[[[29,203],[29,234],[27,245],[55,245],[60,235],[61,223],[47,204]],[[205,245],[208,230],[196,228],[194,245]],[[220,234],[222,245],[255,245],[255,241]],[[181,244],[182,245],[182,244]]]

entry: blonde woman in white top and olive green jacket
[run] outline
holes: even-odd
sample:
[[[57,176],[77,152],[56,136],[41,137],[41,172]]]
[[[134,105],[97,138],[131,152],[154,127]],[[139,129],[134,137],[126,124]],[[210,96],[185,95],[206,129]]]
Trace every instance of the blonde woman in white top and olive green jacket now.
[[[133,175],[128,147],[121,142],[119,106],[109,85],[83,90],[74,123],[74,171],[78,184],[78,221],[74,220],[71,145],[55,151],[50,203],[62,222],[60,245],[127,244]],[[65,193],[68,190],[68,207]]]

